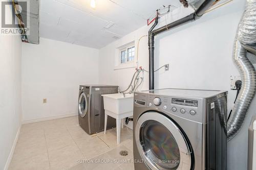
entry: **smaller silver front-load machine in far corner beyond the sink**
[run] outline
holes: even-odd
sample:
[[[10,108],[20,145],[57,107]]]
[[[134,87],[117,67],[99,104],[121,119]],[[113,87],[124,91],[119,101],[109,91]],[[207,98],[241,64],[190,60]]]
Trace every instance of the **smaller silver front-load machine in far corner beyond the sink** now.
[[[104,130],[104,106],[101,94],[117,93],[118,86],[80,85],[78,98],[78,121],[88,134]],[[116,127],[116,120],[108,117],[107,129]]]

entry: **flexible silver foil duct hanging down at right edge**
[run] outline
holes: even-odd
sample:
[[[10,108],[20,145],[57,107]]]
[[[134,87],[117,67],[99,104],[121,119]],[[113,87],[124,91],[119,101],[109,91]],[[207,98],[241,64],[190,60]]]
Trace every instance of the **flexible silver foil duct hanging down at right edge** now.
[[[247,110],[256,91],[256,72],[254,66],[246,57],[246,45],[256,43],[256,0],[247,0],[245,12],[238,26],[234,40],[233,61],[237,65],[242,77],[242,88],[237,98],[232,114],[227,124],[228,141],[241,129]],[[241,41],[241,42],[240,42]]]

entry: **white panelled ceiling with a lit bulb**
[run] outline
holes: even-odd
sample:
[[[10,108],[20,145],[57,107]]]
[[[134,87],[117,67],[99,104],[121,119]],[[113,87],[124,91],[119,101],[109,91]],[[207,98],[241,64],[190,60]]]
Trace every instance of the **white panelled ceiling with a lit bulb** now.
[[[41,0],[39,36],[101,48],[146,25],[162,5],[181,6],[179,0]],[[108,25],[110,28],[104,28]]]

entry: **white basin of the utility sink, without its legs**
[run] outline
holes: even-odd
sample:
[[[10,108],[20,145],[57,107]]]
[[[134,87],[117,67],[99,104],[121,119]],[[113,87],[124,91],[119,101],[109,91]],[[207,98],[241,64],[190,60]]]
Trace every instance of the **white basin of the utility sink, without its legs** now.
[[[116,114],[133,112],[133,94],[114,93],[102,94],[104,109]]]

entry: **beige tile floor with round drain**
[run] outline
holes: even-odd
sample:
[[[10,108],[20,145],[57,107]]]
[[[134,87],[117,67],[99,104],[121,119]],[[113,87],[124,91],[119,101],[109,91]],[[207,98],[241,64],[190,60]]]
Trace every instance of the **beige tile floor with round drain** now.
[[[132,138],[132,130],[127,128],[121,131],[120,144],[116,144],[115,129],[105,135],[88,135],[79,127],[77,116],[26,124],[20,130],[9,169],[134,169],[132,163],[114,162],[131,162]],[[129,155],[120,156],[121,150]],[[98,163],[99,159],[110,162]]]

